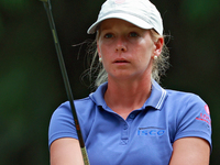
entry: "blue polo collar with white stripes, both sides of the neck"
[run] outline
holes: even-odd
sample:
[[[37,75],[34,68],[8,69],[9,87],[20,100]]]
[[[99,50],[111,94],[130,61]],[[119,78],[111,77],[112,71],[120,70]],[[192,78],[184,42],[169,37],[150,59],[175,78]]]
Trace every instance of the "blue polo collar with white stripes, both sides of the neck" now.
[[[97,106],[101,106],[103,108],[107,108],[106,101],[103,99],[107,87],[108,87],[108,82],[105,82],[101,86],[99,86],[95,92],[89,95],[91,100],[94,102],[96,102]],[[157,110],[161,110],[166,97],[167,97],[166,90],[163,89],[155,80],[152,80],[151,96],[145,101],[142,109],[145,109],[146,107],[153,107]]]

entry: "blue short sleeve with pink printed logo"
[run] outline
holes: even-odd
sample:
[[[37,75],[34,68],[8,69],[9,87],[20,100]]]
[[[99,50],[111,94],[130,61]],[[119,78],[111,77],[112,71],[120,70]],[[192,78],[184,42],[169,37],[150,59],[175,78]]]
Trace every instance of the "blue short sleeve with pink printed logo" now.
[[[177,118],[175,140],[186,136],[205,139],[211,147],[211,118],[208,105],[196,95],[189,95]]]

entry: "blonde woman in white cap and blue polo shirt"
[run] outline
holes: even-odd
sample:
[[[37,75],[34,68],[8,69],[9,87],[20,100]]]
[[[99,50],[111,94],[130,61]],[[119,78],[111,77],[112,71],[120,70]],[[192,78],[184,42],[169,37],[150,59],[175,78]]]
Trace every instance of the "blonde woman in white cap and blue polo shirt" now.
[[[163,89],[166,68],[161,14],[148,0],[107,0],[97,32],[103,70],[98,89],[75,101],[91,165],[207,165],[208,106],[196,95]],[[107,82],[103,82],[108,80]],[[82,165],[69,103],[50,124],[52,165]]]

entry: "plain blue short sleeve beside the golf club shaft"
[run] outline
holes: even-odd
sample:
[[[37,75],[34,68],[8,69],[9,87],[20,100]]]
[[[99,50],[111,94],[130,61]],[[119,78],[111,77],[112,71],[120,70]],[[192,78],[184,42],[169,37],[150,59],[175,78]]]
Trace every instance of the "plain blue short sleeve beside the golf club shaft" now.
[[[48,128],[48,146],[61,138],[78,139],[68,101],[61,105],[52,114]]]

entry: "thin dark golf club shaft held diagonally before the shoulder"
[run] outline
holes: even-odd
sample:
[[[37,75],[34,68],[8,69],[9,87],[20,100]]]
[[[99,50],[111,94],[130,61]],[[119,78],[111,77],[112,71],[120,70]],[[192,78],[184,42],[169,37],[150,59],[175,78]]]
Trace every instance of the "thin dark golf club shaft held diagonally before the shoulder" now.
[[[57,37],[57,32],[56,32],[56,29],[55,29],[55,23],[54,23],[54,19],[53,19],[53,14],[52,14],[52,7],[51,7],[51,3],[50,3],[50,0],[41,0],[41,1],[43,1],[43,3],[44,3],[44,8],[45,8],[47,16],[48,16],[48,21],[50,21],[50,25],[51,25],[56,52],[57,52],[57,57],[58,57],[58,62],[59,62],[65,88],[66,88],[66,94],[67,94],[67,97],[68,97],[68,100],[69,100],[69,103],[70,103],[70,108],[72,108],[72,112],[73,112],[73,117],[74,117],[74,121],[75,121],[75,127],[76,127],[76,130],[77,130],[77,135],[78,135],[78,140],[79,140],[79,145],[80,145],[80,148],[81,148],[84,164],[89,165],[89,160],[88,160],[86,146],[85,146],[85,143],[84,143],[80,125],[79,125],[79,122],[78,122],[78,117],[77,117],[76,109],[75,109],[75,106],[74,106],[74,97],[73,97],[73,94],[72,94],[72,88],[70,88],[70,85],[69,85],[65,63],[64,63],[64,59],[63,59],[62,50],[61,50],[58,37]]]

